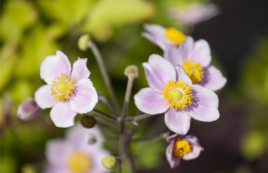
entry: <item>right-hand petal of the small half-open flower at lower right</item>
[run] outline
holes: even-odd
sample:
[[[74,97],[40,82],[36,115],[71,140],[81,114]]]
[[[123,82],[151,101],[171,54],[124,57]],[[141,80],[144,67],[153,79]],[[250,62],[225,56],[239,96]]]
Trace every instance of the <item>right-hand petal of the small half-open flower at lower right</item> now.
[[[192,152],[188,153],[187,155],[182,156],[182,159],[184,160],[195,159],[200,155],[201,151],[204,151],[204,148],[200,146],[197,137],[192,136],[192,135],[187,135],[185,136],[184,140],[192,144]]]

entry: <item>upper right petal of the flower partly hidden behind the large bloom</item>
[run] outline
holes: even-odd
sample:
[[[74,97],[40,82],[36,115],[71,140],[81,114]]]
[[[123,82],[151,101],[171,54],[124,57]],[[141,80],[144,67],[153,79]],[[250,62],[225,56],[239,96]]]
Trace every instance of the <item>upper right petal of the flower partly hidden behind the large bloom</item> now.
[[[200,39],[195,42],[194,55],[192,59],[202,67],[207,67],[211,63],[210,45],[206,40]]]

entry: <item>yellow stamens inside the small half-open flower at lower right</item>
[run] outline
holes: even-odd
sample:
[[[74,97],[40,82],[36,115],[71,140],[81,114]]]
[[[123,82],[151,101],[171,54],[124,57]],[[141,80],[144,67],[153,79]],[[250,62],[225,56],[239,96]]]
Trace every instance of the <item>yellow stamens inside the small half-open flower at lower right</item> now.
[[[176,139],[173,146],[173,154],[176,157],[182,157],[183,155],[186,155],[188,153],[192,152],[192,145],[180,138]]]

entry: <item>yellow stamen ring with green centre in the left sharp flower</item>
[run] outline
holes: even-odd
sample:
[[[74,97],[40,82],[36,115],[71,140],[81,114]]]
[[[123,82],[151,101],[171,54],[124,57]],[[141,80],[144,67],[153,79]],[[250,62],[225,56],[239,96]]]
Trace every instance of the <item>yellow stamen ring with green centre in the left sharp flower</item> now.
[[[75,82],[73,81],[73,77],[70,77],[66,74],[61,74],[60,78],[55,78],[50,85],[51,95],[54,96],[55,101],[66,101],[69,99],[70,95],[72,95],[74,89]]]

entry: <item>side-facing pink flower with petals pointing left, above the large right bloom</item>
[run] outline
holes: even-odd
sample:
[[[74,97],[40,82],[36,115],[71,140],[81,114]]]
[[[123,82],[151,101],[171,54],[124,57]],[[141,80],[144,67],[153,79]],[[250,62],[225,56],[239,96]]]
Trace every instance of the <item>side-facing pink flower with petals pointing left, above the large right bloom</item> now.
[[[186,36],[175,28],[164,28],[161,25],[144,24],[144,29],[148,32],[141,33],[150,42],[159,46],[162,50],[167,45],[180,46]]]

